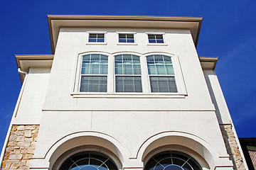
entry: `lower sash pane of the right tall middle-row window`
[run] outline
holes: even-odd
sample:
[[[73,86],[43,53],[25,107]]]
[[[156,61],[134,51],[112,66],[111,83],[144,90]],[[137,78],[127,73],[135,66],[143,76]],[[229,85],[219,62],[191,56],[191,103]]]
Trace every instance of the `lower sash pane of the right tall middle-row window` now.
[[[149,77],[151,92],[177,92],[174,77]]]

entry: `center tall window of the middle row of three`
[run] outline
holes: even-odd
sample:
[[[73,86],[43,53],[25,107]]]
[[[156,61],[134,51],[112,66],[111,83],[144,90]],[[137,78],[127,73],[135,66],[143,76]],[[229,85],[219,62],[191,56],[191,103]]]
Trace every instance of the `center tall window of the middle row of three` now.
[[[142,92],[142,73],[137,55],[114,56],[116,92]]]

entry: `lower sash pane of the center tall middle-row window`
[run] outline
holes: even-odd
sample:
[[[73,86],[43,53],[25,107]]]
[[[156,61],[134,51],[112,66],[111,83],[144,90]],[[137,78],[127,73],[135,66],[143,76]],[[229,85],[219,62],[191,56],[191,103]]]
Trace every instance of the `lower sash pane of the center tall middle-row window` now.
[[[116,77],[116,92],[142,92],[142,78]]]

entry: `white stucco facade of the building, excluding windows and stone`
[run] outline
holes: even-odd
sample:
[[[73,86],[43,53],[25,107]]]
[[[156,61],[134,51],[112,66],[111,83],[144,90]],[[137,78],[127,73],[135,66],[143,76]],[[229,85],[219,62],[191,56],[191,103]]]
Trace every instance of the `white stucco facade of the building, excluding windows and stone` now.
[[[21,76],[11,125],[40,125],[30,169],[59,169],[82,150],[106,154],[118,169],[142,170],[166,150],[190,155],[204,170],[234,169],[220,131],[233,123],[214,72],[217,59],[196,52],[201,18],[60,17],[48,16],[53,57],[17,57],[28,74]],[[88,42],[90,33],[104,33],[105,42]],[[119,33],[134,34],[134,43],[119,43]],[[162,34],[164,43],[150,44],[149,33]],[[87,54],[108,56],[107,92],[80,92]],[[139,56],[142,93],[115,92],[114,56],[120,54]],[[171,57],[176,93],[150,91],[149,55]]]

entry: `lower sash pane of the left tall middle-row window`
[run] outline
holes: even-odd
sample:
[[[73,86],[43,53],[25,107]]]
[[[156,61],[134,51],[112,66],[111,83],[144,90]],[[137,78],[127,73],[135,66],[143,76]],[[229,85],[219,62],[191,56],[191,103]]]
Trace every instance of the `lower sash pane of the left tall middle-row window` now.
[[[107,92],[107,77],[81,77],[81,92]]]

